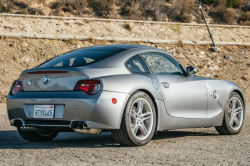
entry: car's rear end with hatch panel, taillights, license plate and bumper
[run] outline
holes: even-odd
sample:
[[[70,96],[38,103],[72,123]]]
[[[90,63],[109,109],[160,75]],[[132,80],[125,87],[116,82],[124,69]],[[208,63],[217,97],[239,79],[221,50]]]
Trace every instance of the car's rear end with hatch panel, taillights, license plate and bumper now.
[[[90,134],[120,127],[128,94],[103,90],[102,77],[91,78],[89,68],[46,64],[23,71],[13,83],[7,97],[12,126]]]

